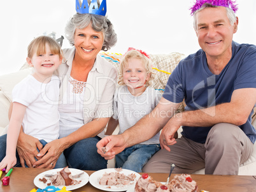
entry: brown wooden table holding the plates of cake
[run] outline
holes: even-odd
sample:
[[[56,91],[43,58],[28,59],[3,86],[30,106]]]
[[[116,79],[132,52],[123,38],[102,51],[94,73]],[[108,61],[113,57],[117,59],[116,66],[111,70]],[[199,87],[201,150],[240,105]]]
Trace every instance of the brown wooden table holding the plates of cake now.
[[[32,189],[36,188],[34,185],[34,177],[36,177],[41,172],[45,172],[49,169],[34,169],[34,168],[13,168],[13,172],[10,176],[10,185],[3,186],[1,182],[0,191],[24,191],[29,192]],[[87,174],[92,174],[94,171],[85,170]],[[3,173],[1,179],[5,176]],[[157,181],[166,181],[168,174],[159,174],[152,173],[150,174]],[[174,175],[171,176],[173,179]],[[191,175],[192,179],[197,182],[199,190],[204,189],[210,192],[246,192],[246,191],[256,191],[256,176],[213,176],[213,175]],[[37,188],[36,188],[37,189]],[[94,188],[90,182],[88,182],[85,186],[79,189],[73,190],[76,191],[101,191],[99,189]]]

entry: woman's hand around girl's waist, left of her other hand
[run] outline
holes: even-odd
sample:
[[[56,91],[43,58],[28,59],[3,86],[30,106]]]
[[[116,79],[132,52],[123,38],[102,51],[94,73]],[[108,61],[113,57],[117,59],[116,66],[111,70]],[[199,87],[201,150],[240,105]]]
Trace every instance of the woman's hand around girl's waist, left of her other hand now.
[[[17,151],[18,157],[20,157],[20,164],[22,167],[25,167],[25,163],[28,167],[32,167],[33,163],[36,162],[35,157],[38,154],[38,148],[41,150],[43,145],[40,141],[32,136],[25,134],[23,131],[20,131],[17,142]]]

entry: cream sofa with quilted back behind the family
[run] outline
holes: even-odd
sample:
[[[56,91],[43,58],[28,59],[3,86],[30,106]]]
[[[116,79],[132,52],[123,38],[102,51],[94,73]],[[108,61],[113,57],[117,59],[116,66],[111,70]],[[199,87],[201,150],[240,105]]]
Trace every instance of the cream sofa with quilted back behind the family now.
[[[101,56],[110,61],[117,70],[119,69],[119,61],[122,54],[117,53],[106,53],[102,52]],[[153,80],[152,86],[155,89],[164,89],[169,74],[174,70],[178,62],[184,58],[184,54],[180,53],[170,53],[170,54],[150,54],[150,58],[153,61],[153,68],[156,73],[155,80]],[[8,109],[11,102],[11,91],[15,84],[24,79],[27,75],[31,74],[32,69],[26,64],[23,65],[18,72],[13,72],[12,74],[0,76],[0,135],[6,133],[6,125],[8,125]],[[183,105],[181,105],[179,110],[183,110]],[[256,115],[253,116],[253,126],[256,127]],[[115,131],[118,132],[118,131]],[[181,132],[181,129],[179,129]],[[181,134],[179,134],[181,136]],[[113,167],[115,161],[111,160],[108,162],[108,167]],[[256,145],[254,145],[253,154],[251,157],[243,163],[239,168],[239,175],[252,176],[256,173]],[[198,170],[195,174],[204,174],[204,169]]]

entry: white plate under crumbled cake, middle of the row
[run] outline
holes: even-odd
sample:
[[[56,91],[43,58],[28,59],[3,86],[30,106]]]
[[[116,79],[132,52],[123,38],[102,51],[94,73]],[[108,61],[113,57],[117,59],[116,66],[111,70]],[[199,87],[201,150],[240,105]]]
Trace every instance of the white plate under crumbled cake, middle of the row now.
[[[101,189],[104,191],[127,191],[130,188],[134,189],[134,186],[135,186],[137,180],[141,176],[140,174],[138,174],[137,172],[134,172],[133,170],[122,169],[122,171],[120,171],[120,173],[125,174],[125,176],[128,176],[129,174],[136,175],[136,179],[134,180],[134,183],[129,186],[124,186],[124,187],[106,186],[106,185],[99,184],[99,179],[101,179],[101,177],[103,176],[103,174],[105,172],[106,173],[116,172],[116,170],[114,168],[97,170],[96,172],[94,172],[93,174],[90,175],[90,178],[89,178],[90,184],[92,186],[94,186],[95,188]],[[111,187],[111,188],[108,188],[108,187]]]

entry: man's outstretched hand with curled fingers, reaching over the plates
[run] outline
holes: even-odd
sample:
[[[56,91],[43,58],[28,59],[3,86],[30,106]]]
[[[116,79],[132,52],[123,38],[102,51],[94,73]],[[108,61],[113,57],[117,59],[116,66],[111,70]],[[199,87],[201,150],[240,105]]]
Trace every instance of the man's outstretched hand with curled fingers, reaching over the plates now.
[[[106,136],[97,143],[97,152],[99,155],[104,157],[106,160],[110,160],[115,157],[118,153],[122,152],[127,143],[125,142],[122,134],[115,136]],[[103,153],[103,148],[106,149],[106,153]]]

